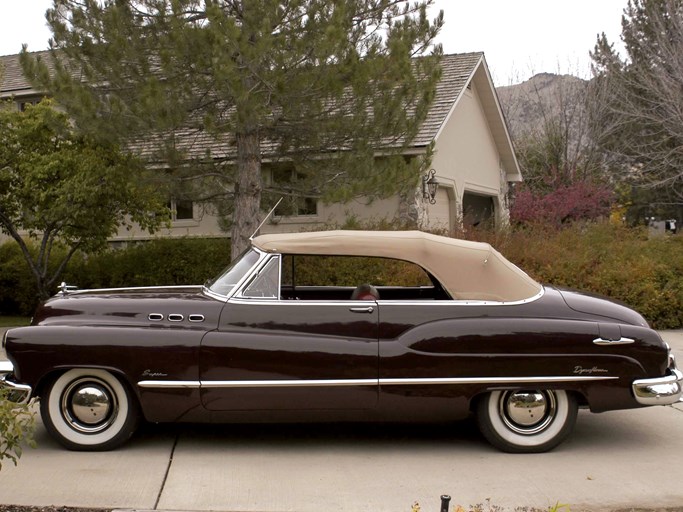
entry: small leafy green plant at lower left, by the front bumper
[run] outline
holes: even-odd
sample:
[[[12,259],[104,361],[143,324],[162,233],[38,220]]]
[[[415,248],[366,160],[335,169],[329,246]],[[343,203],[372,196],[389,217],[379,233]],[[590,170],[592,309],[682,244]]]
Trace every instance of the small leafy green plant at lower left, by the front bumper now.
[[[35,412],[33,402],[14,403],[8,399],[8,391],[0,389],[0,469],[3,459],[11,460],[14,465],[21,458],[23,445],[34,446],[33,429]]]

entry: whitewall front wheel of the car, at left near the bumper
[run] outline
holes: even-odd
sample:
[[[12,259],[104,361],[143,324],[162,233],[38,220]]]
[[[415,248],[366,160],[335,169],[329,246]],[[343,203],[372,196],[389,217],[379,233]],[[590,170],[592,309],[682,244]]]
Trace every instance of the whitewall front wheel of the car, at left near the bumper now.
[[[104,370],[81,368],[48,386],[40,414],[57,441],[78,451],[116,448],[133,434],[139,417],[137,402],[121,381]]]

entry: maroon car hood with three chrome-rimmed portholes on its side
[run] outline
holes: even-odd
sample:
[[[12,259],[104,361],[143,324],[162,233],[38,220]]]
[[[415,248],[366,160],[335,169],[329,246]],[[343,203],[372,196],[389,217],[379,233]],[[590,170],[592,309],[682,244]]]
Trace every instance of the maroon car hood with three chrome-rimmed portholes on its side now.
[[[222,305],[201,286],[81,290],[49,299],[33,325],[178,325],[192,322],[191,316],[213,323]]]

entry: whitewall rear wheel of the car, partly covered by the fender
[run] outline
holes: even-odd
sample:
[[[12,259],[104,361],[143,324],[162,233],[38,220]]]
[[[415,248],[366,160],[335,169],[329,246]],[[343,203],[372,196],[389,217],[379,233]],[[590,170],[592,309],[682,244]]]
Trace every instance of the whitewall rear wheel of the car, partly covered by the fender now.
[[[564,441],[576,423],[576,398],[563,390],[492,391],[477,404],[477,423],[496,448],[539,453]]]

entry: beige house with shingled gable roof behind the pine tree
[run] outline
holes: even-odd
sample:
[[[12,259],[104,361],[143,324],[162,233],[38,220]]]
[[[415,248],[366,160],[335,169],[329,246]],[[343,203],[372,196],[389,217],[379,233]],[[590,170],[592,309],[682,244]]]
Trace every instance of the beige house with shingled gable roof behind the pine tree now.
[[[12,98],[20,109],[40,101],[41,91],[23,77],[18,55],[0,57],[0,68],[4,70],[0,98]],[[342,224],[350,215],[367,221],[408,215],[424,229],[449,233],[460,226],[487,221],[505,225],[509,218],[508,187],[522,176],[484,54],[445,55],[442,68],[434,103],[407,150],[409,155],[424,154],[434,143],[433,172],[423,178],[423,184],[430,177],[438,182],[433,198],[421,189],[413,198],[347,204],[325,205],[300,198],[287,214],[276,212],[262,232]],[[275,172],[264,166],[264,181],[282,179]],[[164,230],[165,236],[225,236],[211,205],[171,199],[170,206],[173,219],[171,227]],[[133,230],[121,231],[115,240],[145,238],[149,235]]]

